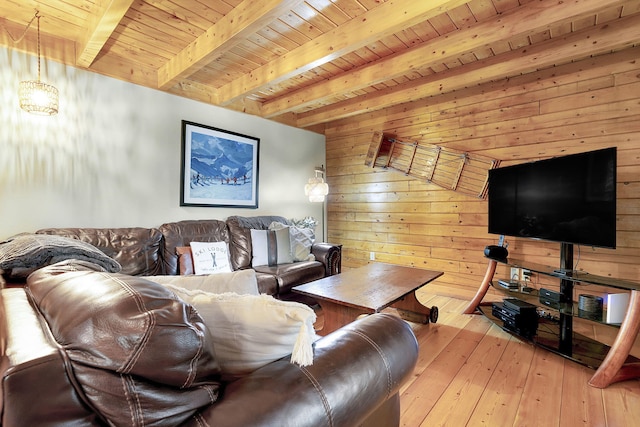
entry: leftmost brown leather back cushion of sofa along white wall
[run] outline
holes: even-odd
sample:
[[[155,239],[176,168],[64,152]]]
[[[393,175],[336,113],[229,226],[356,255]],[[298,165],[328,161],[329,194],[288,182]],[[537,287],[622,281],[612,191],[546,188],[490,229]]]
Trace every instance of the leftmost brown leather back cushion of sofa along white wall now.
[[[37,234],[70,237],[100,249],[132,276],[161,274],[162,234],[157,228],[43,228]]]

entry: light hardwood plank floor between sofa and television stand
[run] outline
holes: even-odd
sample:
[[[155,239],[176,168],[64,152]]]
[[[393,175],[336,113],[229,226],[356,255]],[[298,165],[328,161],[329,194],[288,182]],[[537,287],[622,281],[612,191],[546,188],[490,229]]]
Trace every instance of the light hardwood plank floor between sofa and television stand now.
[[[412,324],[420,355],[401,388],[401,425],[638,426],[640,380],[590,387],[593,370],[512,337],[468,301],[429,293],[435,324]]]

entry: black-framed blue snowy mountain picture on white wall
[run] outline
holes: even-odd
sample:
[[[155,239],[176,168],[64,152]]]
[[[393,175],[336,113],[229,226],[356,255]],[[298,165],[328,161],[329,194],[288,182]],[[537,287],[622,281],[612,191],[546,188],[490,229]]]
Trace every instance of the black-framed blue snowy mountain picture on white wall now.
[[[258,208],[260,139],[182,121],[180,206]]]

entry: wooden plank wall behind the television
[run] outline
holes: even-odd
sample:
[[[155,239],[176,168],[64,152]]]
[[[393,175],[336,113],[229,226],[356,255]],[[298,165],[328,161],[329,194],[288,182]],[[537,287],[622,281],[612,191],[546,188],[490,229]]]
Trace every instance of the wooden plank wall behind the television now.
[[[501,166],[618,147],[618,248],[576,247],[577,268],[640,283],[640,48],[590,58],[330,123],[328,240],[343,267],[375,259],[443,270],[437,285],[470,298],[486,269],[485,200],[365,166],[384,132],[501,160]],[[508,238],[512,256],[558,266],[560,245]],[[506,267],[498,274],[508,276]],[[534,277],[544,282],[544,279]]]

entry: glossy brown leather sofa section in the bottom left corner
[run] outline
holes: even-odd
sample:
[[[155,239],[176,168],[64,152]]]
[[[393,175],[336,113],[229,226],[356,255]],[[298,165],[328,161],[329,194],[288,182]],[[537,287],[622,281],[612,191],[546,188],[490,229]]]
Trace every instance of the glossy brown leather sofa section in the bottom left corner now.
[[[24,287],[0,290],[0,426],[104,425]]]

